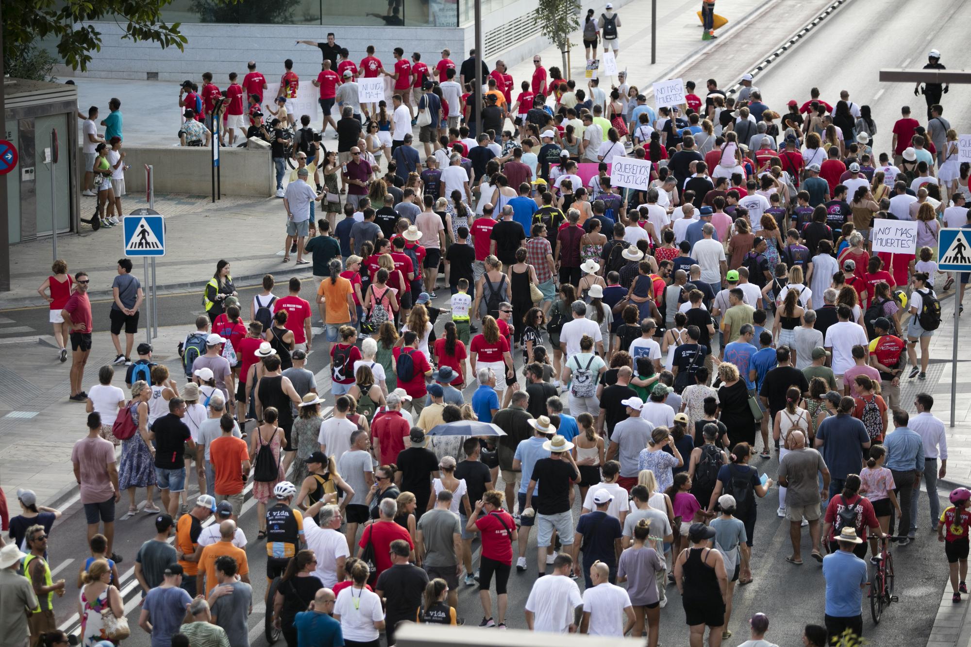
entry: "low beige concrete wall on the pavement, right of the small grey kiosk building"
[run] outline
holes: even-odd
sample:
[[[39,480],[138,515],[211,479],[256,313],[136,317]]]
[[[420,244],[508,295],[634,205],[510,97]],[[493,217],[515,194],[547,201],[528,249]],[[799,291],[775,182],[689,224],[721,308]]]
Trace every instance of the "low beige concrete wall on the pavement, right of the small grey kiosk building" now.
[[[212,150],[180,146],[124,147],[125,190],[145,194],[145,164],[152,166],[156,193],[212,193]],[[80,156],[80,152],[79,152]],[[270,150],[220,149],[219,185],[223,195],[270,197],[276,190],[276,172]]]

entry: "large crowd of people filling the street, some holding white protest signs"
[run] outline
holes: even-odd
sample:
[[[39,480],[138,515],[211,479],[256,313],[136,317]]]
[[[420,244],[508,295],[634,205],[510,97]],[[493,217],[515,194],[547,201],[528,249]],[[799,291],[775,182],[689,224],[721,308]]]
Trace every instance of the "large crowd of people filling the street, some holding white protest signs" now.
[[[604,18],[616,38],[617,15]],[[598,29],[607,38],[603,20]],[[264,132],[287,216],[283,260],[313,263],[318,339],[300,280],[284,295],[266,275],[247,309],[219,260],[206,314],[180,345],[180,385],[150,345],[131,358],[142,291],[121,259],[111,325],[130,392],[112,386],[112,366],[84,392],[86,275],[57,261],[40,289],[60,361],[72,345],[71,399],[88,411],[73,458],[92,551],[85,644],[114,630],[115,504],[126,491],[134,514],[141,489],[158,534],[135,558],[140,627],[153,645],[248,644],[236,523],[250,479],[258,526],[247,529],[266,542],[266,609],[289,645],[376,646],[382,631],[393,645],[401,622],[463,624],[461,586],[479,589],[479,626],[503,630],[515,562],[537,576],[530,630],[629,632],[654,647],[673,585],[689,644],[707,629],[717,647],[732,635],[735,587],[753,582],[753,561],[774,559],[753,535],[757,501],[776,482],[772,504],[791,538],[779,567],[804,565],[808,528],[825,579],[824,627],[808,626],[805,644],[862,634],[863,558],[869,546],[879,559],[884,535],[922,540],[921,481],[954,601],[967,593],[971,493],[955,491],[941,513],[944,425],[929,393],[914,414],[901,398],[926,379],[940,298],[959,290],[958,316],[968,281],[938,271],[940,228],[971,227],[968,168],[938,88],[924,86],[937,97],[926,125],[903,107],[881,150],[869,107],[846,91],[831,105],[812,88],[777,111],[748,75],[737,96],[714,79],[696,94],[687,81],[684,105],[655,111],[622,74],[585,90],[534,56],[515,97],[502,61],[484,70],[479,116],[474,52],[456,65],[443,51],[429,68],[397,48],[388,71],[374,48],[358,66],[333,35],[306,43],[323,54],[313,82],[322,128],[296,119],[288,60]],[[939,59],[932,51],[928,65]],[[361,104],[354,80],[380,75],[394,81],[390,104]],[[218,87],[203,81],[201,96],[190,81],[180,95],[193,124],[183,137],[219,118]],[[266,81],[254,62],[242,86],[230,81],[219,136],[232,145],[244,96],[249,128],[263,128]],[[297,120],[284,187],[282,131]],[[328,124],[336,151],[323,141]],[[648,188],[612,185],[620,157],[651,162]],[[877,218],[919,221],[917,254],[873,253]],[[329,393],[305,367],[315,342],[329,358]],[[503,434],[439,435],[475,421]],[[774,454],[770,477],[760,464]],[[200,493],[191,505],[189,480]],[[12,522],[17,545],[0,559],[5,578],[20,569],[33,583],[9,586],[22,589],[40,644],[63,581],[50,583],[43,558],[53,520],[33,493],[18,499],[38,519],[19,522],[20,536]],[[210,517],[218,523],[204,528]],[[765,615],[750,625],[745,645],[771,644]]]

